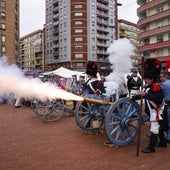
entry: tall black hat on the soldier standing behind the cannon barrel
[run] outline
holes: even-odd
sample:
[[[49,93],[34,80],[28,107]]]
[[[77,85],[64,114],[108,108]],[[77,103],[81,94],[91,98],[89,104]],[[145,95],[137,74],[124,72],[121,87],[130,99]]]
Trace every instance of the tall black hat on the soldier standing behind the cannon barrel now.
[[[86,74],[87,75],[92,75],[92,76],[96,76],[97,75],[97,62],[96,61],[88,61],[87,63],[87,67],[86,67]]]

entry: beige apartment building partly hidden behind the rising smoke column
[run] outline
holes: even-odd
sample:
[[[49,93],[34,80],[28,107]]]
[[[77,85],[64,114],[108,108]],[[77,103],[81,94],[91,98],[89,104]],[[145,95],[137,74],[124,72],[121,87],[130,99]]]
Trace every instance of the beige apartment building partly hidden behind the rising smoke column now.
[[[118,20],[118,39],[127,38],[134,45],[134,54],[131,56],[133,69],[138,69],[138,61],[141,56],[138,53],[139,41],[138,41],[139,29],[137,24],[127,20]]]

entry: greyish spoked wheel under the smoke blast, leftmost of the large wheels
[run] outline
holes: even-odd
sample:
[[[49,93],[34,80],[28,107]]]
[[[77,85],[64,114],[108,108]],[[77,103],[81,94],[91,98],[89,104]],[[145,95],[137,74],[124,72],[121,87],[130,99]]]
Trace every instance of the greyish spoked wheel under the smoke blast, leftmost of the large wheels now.
[[[31,107],[36,115],[45,122],[57,121],[64,112],[64,102],[62,100],[52,102],[33,100]]]

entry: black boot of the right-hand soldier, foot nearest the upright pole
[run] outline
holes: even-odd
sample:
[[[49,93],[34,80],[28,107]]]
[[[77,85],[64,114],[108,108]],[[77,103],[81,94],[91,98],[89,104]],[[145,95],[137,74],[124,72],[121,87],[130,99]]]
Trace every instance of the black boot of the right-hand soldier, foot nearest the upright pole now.
[[[158,141],[157,134],[151,133],[149,145],[142,151],[143,153],[155,152],[155,145]]]

